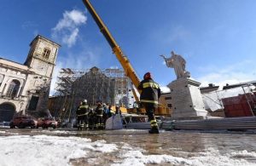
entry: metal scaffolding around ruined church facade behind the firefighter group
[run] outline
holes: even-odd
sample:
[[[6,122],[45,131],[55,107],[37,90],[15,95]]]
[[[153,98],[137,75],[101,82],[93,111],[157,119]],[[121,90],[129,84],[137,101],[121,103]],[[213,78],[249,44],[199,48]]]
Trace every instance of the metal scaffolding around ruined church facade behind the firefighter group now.
[[[132,100],[128,89],[129,78],[118,68],[62,68],[55,84],[55,94],[49,99],[49,110],[55,117],[73,118],[79,102],[84,99],[91,106],[102,100],[109,105],[128,107],[129,100]]]

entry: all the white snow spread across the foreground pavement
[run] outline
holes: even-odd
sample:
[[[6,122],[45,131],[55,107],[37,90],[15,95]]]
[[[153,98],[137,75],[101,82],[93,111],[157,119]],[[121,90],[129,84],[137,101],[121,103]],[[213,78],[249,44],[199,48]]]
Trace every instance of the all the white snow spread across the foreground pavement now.
[[[172,155],[151,155],[140,147],[134,147],[125,142],[109,144],[105,140],[91,141],[80,137],[63,137],[49,135],[11,135],[0,136],[0,165],[71,165],[71,159],[87,158],[88,164],[96,165],[102,158],[90,157],[92,153],[112,155],[113,166],[145,165],[148,163],[167,163],[174,165],[256,165],[255,152],[236,151],[218,152],[208,148],[204,152],[182,152],[183,157]],[[175,151],[175,149],[172,149]],[[180,151],[180,149],[178,150]],[[190,157],[189,157],[190,156]],[[193,156],[193,157],[192,157]],[[251,163],[250,163],[251,162]]]

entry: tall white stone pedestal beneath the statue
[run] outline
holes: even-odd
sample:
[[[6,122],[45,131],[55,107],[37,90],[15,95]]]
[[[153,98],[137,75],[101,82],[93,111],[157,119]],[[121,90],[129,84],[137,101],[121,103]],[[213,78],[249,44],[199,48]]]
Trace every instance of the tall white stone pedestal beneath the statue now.
[[[173,119],[207,117],[199,89],[200,84],[195,80],[182,77],[167,85],[171,89]]]

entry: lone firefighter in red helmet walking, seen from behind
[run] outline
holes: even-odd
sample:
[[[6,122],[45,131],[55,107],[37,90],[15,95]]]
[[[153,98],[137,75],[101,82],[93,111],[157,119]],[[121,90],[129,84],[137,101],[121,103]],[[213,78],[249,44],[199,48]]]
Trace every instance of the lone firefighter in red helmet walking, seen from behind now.
[[[142,90],[140,100],[146,109],[148,121],[151,125],[151,129],[148,130],[148,133],[159,134],[159,128],[154,117],[154,112],[157,109],[158,99],[160,98],[160,86],[158,83],[154,82],[150,72],[146,72],[143,77],[143,81],[138,86],[138,89]]]

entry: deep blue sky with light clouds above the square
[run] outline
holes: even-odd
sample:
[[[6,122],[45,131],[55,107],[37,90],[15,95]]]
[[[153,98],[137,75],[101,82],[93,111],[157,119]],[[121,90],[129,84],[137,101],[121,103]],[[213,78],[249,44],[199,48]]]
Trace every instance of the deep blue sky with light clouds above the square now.
[[[175,73],[160,54],[173,50],[202,85],[255,80],[254,0],[90,2],[141,78],[152,72],[161,86],[171,83]],[[55,72],[121,67],[82,0],[1,1],[1,57],[23,63],[38,34],[61,44]]]

